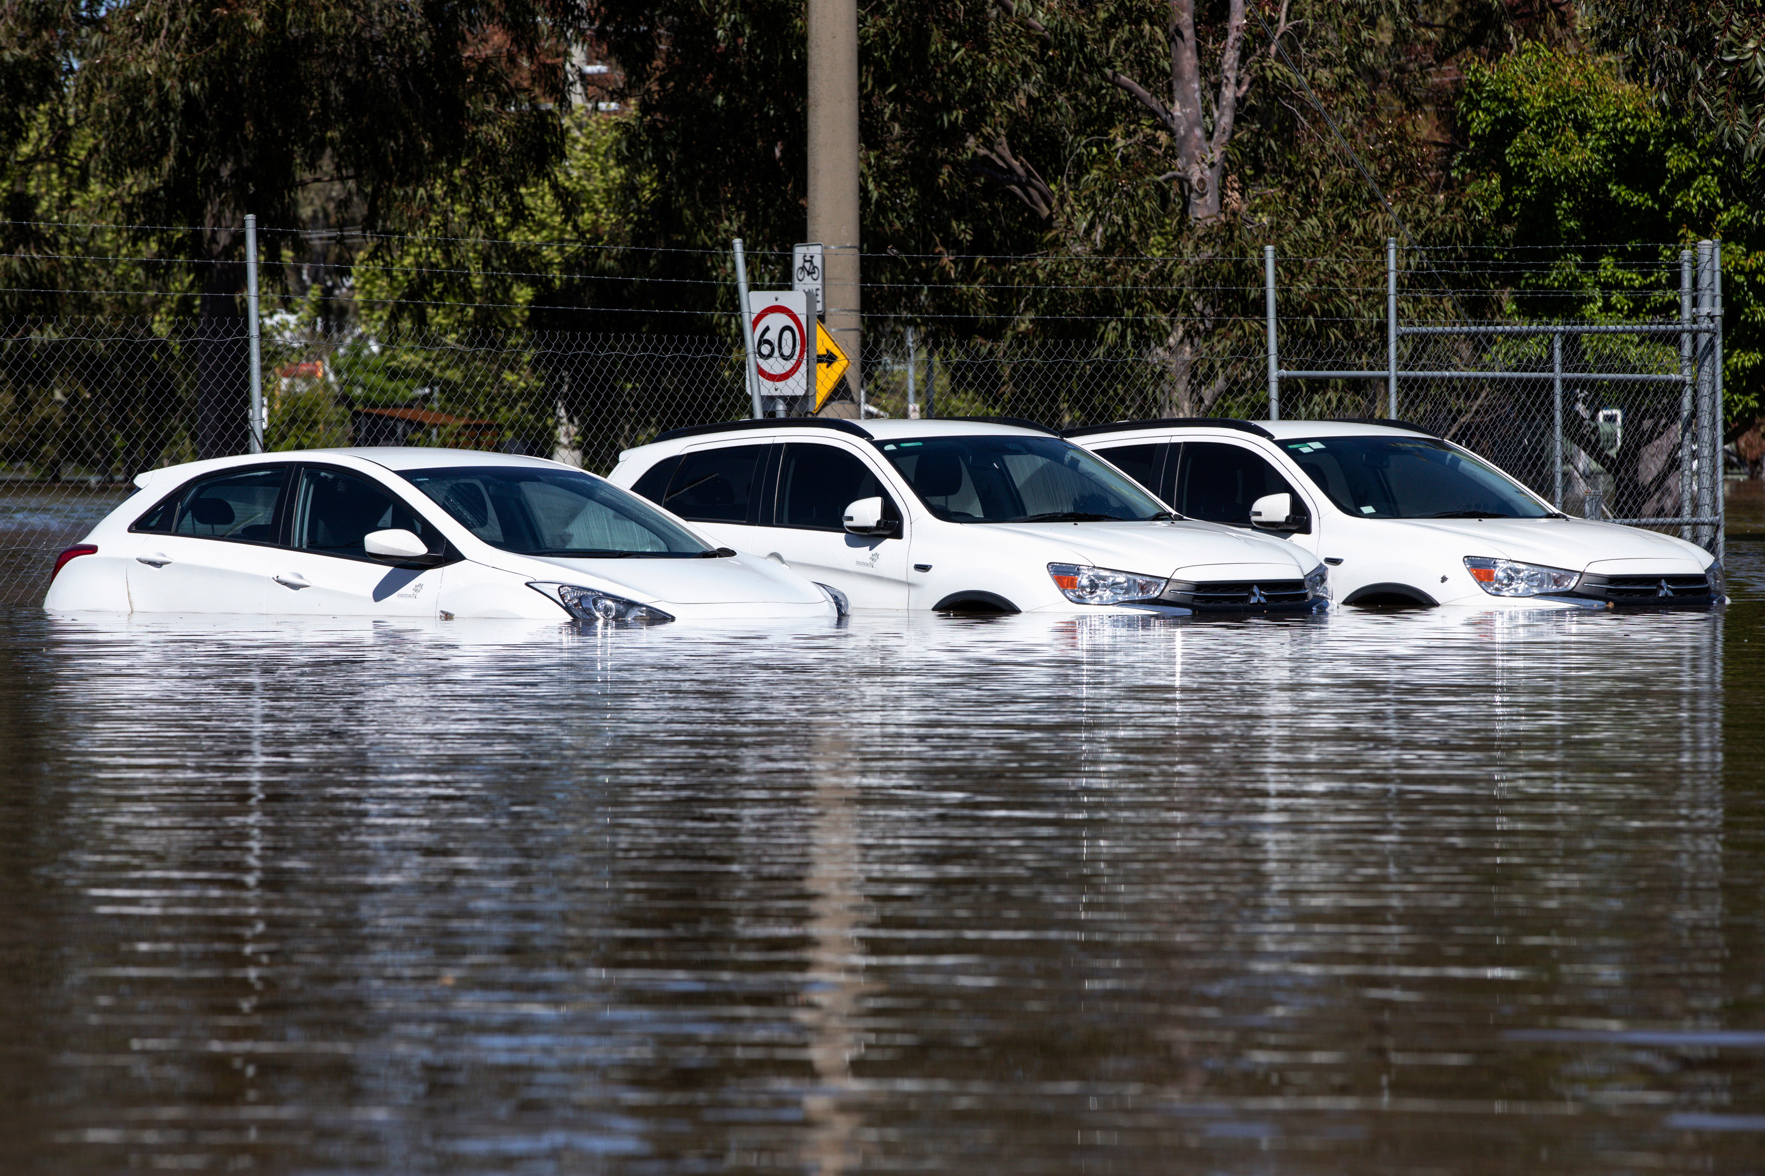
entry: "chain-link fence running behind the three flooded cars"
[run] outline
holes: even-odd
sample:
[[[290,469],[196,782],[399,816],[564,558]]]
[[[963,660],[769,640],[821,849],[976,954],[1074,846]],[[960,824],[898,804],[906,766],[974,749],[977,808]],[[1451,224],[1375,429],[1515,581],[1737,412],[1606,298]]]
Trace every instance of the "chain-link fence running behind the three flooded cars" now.
[[[1262,349],[1243,342],[1244,330],[1163,347],[914,342],[874,330],[849,384],[861,404],[837,411],[1054,427],[1257,420],[1271,414],[1273,391],[1281,418],[1410,420],[1569,513],[1599,495],[1603,517],[1671,520],[1716,545],[1714,525],[1680,524],[1719,511],[1716,321],[1707,316],[1709,330],[1693,339],[1686,321],[1659,319],[1629,324],[1645,333],[1613,323],[1460,323],[1453,333],[1401,324],[1393,333],[1394,317],[1368,317],[1334,339],[1294,330]],[[0,599],[41,599],[55,554],[122,501],[139,471],[245,451],[249,354],[237,317],[5,324]],[[318,328],[291,312],[263,319],[259,381],[267,450],[457,446],[593,471],[662,430],[743,418],[750,406],[741,347],[718,335]]]

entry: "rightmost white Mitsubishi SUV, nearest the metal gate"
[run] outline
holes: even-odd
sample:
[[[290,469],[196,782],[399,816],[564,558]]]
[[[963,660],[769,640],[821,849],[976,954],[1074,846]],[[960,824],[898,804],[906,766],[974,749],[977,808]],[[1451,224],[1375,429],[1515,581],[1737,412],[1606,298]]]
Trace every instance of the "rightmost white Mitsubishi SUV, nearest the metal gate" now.
[[[1287,536],[1343,605],[1710,605],[1700,547],[1569,518],[1470,450],[1400,421],[1165,420],[1070,428],[1190,518]]]

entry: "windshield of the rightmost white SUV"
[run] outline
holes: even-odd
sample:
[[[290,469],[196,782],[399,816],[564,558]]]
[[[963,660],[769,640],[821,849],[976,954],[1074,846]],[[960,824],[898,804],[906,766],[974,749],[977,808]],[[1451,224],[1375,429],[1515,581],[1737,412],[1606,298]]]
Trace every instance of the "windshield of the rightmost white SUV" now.
[[[1431,437],[1315,437],[1281,448],[1357,518],[1546,518],[1502,471]]]

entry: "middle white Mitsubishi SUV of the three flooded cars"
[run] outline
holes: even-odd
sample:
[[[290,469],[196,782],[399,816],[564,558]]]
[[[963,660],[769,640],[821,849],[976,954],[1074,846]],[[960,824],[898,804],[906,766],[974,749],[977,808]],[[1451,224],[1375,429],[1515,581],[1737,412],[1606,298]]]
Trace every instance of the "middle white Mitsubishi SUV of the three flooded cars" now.
[[[844,592],[852,608],[1304,612],[1324,564],[1172,518],[1121,471],[1036,427],[785,418],[627,450],[609,478]]]

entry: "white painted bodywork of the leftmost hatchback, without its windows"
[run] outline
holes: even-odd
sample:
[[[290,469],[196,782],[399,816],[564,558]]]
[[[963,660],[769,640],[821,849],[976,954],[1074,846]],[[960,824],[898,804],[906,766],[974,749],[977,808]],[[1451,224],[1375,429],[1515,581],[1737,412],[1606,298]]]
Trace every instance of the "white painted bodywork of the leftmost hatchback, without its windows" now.
[[[263,464],[321,464],[365,474],[439,531],[462,559],[438,568],[325,555],[272,543],[131,532],[131,524],[192,478]],[[524,619],[565,622],[568,614],[530,582],[574,584],[651,605],[676,619],[833,621],[835,607],[812,582],[754,557],[722,559],[542,559],[478,540],[422,492],[397,478],[404,469],[540,465],[544,458],[469,450],[309,450],[212,458],[148,471],[141,490],[83,540],[99,548],[62,568],[49,585],[49,612],[288,614],[404,619]],[[674,520],[717,547],[704,527]],[[162,566],[138,555],[168,557]],[[277,580],[289,580],[282,584]],[[300,580],[305,584],[300,585]]]

